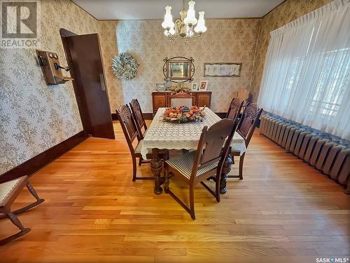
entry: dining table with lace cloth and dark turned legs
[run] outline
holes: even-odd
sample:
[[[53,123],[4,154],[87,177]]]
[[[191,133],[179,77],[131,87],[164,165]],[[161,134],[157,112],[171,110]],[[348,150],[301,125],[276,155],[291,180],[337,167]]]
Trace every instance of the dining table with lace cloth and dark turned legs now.
[[[164,179],[161,177],[164,160],[160,158],[160,150],[195,150],[200,141],[200,135],[204,126],[212,126],[221,120],[211,109],[204,109],[204,118],[202,121],[188,123],[173,123],[164,121],[162,116],[167,108],[159,108],[153,117],[151,126],[149,126],[141,145],[141,155],[146,160],[146,155],[152,153],[151,170],[154,176],[154,193],[162,194],[162,184]],[[232,151],[239,151],[240,155],[246,151],[245,140],[241,135],[235,133],[231,142]],[[230,173],[233,163],[232,156],[228,154],[221,173],[221,194],[227,191],[226,177]]]

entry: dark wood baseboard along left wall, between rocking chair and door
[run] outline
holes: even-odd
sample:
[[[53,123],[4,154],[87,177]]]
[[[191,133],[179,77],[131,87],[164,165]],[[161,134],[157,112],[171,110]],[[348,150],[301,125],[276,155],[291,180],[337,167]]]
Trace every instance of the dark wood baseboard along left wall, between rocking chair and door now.
[[[28,161],[25,161],[19,166],[8,170],[6,173],[3,173],[2,175],[0,175],[0,183],[13,180],[23,175],[32,175],[44,166],[48,165],[48,163],[51,163],[52,161],[57,159],[66,151],[69,151],[73,147],[76,147],[76,145],[80,144],[80,142],[83,142],[86,138],[87,137],[84,131],[82,130],[80,133],[73,135],[69,139],[60,142],[54,147],[43,151],[41,154],[38,154],[37,156],[34,156],[33,158],[29,159]]]

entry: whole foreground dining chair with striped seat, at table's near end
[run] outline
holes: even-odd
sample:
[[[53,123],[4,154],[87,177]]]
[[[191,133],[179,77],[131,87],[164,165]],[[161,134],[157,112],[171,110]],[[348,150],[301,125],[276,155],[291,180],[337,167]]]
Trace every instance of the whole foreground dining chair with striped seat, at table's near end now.
[[[201,183],[220,202],[220,178],[223,163],[230,148],[237,124],[222,119],[210,128],[204,126],[197,150],[165,161],[165,192],[170,194],[195,220],[195,184]],[[169,176],[179,175],[190,187],[190,208],[170,189]],[[213,191],[203,180],[215,175],[216,189]]]

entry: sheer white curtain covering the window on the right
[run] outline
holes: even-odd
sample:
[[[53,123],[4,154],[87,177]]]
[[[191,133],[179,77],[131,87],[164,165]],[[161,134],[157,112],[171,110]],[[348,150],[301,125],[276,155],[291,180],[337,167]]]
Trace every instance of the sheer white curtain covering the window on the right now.
[[[259,107],[350,140],[350,0],[270,34]]]

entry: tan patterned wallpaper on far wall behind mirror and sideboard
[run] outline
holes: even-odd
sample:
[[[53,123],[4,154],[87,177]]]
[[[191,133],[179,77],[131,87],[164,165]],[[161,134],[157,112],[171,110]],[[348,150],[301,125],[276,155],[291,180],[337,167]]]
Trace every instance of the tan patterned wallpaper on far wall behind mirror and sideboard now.
[[[160,20],[129,20],[117,24],[118,52],[130,52],[139,62],[137,76],[122,81],[125,102],[136,97],[143,112],[152,111],[151,92],[164,83],[163,58],[184,56],[195,59],[194,82],[208,80],[213,92],[211,108],[225,112],[235,90],[249,88],[260,28],[259,19],[207,20],[207,32],[189,45],[182,39],[170,43]],[[204,78],[204,62],[242,62],[239,78]]]

